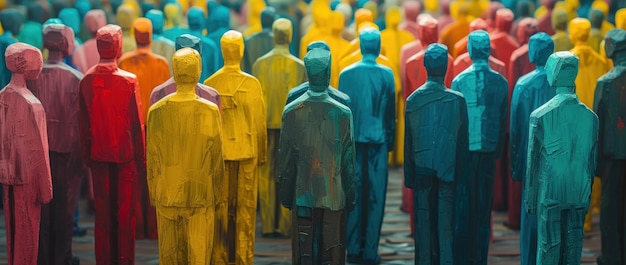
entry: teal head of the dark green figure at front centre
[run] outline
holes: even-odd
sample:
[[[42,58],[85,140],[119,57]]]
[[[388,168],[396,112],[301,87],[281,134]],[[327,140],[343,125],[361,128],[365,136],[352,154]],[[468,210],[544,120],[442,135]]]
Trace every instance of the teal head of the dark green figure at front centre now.
[[[330,51],[312,49],[304,56],[304,67],[309,78],[309,89],[324,92],[330,85]]]

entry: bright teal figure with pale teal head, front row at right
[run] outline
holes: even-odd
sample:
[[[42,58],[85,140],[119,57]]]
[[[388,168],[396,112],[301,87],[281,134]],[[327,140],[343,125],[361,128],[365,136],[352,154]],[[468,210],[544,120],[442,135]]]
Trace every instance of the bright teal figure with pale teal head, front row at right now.
[[[574,92],[577,74],[577,56],[550,55],[546,78],[556,96],[530,114],[524,202],[537,214],[537,264],[580,264],[598,117]]]

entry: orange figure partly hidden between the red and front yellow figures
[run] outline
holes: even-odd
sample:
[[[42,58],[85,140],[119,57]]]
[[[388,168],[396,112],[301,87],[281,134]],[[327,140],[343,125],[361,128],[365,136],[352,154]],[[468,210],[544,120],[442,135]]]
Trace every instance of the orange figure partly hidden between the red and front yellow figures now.
[[[141,115],[143,120],[148,118],[150,95],[152,90],[169,78],[170,67],[167,60],[152,53],[152,22],[147,18],[139,18],[133,23],[133,32],[137,49],[122,55],[119,59],[119,68],[137,76],[139,95],[141,99]],[[137,224],[137,239],[157,238],[156,213],[148,196],[148,185],[145,179],[137,181],[137,200],[134,201],[135,218]]]

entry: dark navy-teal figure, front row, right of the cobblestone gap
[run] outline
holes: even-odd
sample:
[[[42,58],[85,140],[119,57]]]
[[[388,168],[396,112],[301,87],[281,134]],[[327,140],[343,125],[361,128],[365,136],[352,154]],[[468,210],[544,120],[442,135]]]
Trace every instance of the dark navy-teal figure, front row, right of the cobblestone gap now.
[[[467,106],[446,89],[448,48],[424,54],[428,80],[406,100],[404,185],[413,189],[415,264],[453,264],[455,180],[467,163]]]

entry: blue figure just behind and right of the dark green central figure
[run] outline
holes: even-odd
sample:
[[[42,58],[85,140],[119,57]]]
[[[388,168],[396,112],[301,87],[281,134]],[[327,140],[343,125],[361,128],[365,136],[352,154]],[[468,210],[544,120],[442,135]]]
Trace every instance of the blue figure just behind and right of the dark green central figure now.
[[[393,73],[376,62],[380,31],[359,35],[363,60],[339,75],[351,100],[356,142],[356,207],[348,214],[348,262],[378,264],[378,243],[387,193],[388,152],[393,149],[396,102]]]

